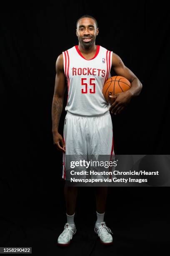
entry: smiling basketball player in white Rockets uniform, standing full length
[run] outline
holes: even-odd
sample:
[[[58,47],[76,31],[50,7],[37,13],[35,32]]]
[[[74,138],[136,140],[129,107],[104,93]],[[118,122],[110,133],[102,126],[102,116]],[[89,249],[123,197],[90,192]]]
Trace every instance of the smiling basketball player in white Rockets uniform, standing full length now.
[[[67,155],[114,154],[111,113],[122,112],[131,98],[142,89],[140,80],[128,69],[117,54],[95,44],[99,34],[97,21],[90,15],[77,20],[76,35],[79,44],[62,52],[56,61],[55,90],[52,100],[52,134],[57,149]],[[131,82],[128,91],[112,97],[112,105],[102,95],[105,81],[111,77],[110,69]],[[63,138],[58,133],[63,98],[68,89]],[[109,111],[110,110],[110,111]],[[62,178],[65,179],[65,165]],[[78,187],[64,187],[67,223],[58,237],[60,246],[70,244],[76,233],[74,223]],[[97,220],[95,233],[100,242],[112,244],[110,228],[104,221],[107,187],[95,187]]]

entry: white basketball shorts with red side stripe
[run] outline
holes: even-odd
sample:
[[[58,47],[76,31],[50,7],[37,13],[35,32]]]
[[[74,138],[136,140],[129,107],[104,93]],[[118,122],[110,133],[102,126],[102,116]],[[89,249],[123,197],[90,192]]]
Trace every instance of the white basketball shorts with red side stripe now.
[[[66,176],[65,155],[114,155],[110,113],[97,117],[82,117],[67,112],[63,137],[63,179]]]

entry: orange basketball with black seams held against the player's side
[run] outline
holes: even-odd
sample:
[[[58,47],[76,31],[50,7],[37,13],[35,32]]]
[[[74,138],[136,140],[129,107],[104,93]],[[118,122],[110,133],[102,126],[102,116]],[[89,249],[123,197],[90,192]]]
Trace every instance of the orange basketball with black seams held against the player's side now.
[[[131,84],[128,79],[121,76],[114,76],[107,79],[103,86],[103,95],[105,97],[105,100],[109,102],[109,96],[113,96],[120,92],[125,92],[129,90],[131,87]]]

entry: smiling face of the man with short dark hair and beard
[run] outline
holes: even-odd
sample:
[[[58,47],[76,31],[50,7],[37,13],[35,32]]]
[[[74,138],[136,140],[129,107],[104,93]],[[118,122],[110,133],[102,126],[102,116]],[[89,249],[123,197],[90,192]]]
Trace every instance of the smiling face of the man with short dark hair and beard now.
[[[78,41],[84,48],[89,48],[95,42],[99,31],[96,28],[95,20],[91,18],[82,18],[78,21],[76,35]]]

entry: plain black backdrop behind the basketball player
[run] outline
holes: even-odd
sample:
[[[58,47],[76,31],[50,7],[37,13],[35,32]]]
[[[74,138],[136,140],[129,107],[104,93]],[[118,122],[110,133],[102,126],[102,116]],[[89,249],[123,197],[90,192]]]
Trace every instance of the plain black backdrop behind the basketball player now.
[[[114,245],[109,248],[93,234],[94,188],[80,188],[77,235],[69,248],[56,246],[66,216],[62,154],[51,132],[55,61],[78,44],[75,23],[84,14],[97,19],[96,44],[118,54],[143,84],[140,96],[112,117],[115,154],[169,154],[165,3],[8,2],[0,14],[0,246],[32,246],[34,255],[163,253],[170,228],[168,187],[110,187],[105,220]],[[65,114],[63,109],[60,133]]]

